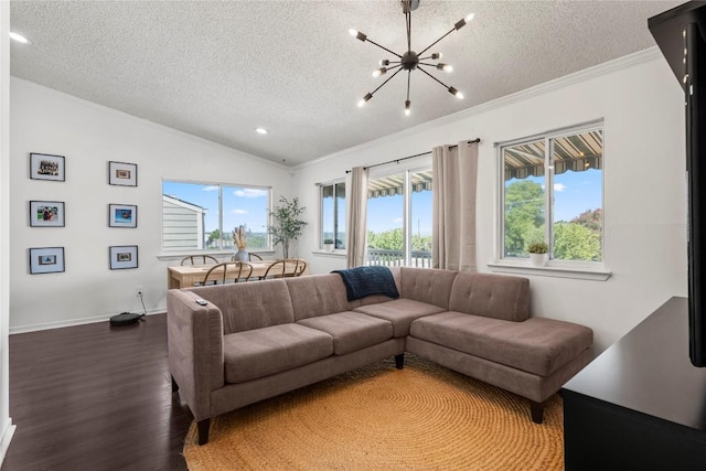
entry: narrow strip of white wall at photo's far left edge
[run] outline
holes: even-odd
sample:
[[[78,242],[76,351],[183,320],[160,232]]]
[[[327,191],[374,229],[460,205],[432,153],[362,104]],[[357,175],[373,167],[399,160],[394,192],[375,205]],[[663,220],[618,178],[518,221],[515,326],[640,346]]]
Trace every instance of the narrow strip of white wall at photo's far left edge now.
[[[10,2],[0,2],[0,465],[15,427],[10,418]]]

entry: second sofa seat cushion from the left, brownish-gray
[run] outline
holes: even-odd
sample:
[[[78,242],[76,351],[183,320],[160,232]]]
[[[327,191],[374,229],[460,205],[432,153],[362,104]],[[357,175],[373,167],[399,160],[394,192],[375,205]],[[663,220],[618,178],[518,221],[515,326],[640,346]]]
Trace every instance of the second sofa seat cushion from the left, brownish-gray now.
[[[298,322],[333,338],[333,353],[345,355],[393,338],[393,324],[360,312],[338,312]]]

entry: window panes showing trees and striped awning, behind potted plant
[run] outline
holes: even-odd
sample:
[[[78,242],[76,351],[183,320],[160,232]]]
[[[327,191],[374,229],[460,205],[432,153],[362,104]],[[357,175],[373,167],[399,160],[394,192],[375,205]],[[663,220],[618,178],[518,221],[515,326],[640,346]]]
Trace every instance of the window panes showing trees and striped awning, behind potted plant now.
[[[502,258],[549,245],[554,260],[602,261],[602,124],[500,147]]]

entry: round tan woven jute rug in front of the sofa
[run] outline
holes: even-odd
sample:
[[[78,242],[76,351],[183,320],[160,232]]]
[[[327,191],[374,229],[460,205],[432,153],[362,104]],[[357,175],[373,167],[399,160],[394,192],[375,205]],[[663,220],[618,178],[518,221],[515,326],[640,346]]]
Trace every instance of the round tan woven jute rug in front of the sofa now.
[[[561,399],[544,424],[526,399],[424,358],[379,362],[191,425],[184,457],[200,470],[561,470]]]

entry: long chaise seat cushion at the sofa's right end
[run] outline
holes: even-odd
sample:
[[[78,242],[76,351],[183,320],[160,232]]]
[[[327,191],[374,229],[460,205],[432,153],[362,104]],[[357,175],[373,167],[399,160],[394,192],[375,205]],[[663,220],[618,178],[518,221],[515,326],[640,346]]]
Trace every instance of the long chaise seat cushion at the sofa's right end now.
[[[513,322],[457,311],[417,319],[410,334],[539,376],[549,376],[593,342],[590,329],[569,322]]]

